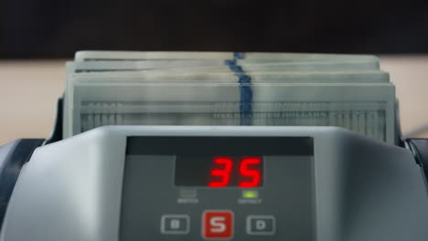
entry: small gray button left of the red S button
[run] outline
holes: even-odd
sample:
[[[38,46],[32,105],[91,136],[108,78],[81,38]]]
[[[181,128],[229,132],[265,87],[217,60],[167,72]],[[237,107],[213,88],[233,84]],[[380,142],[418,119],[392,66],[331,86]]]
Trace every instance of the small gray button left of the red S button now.
[[[164,235],[186,235],[190,231],[188,215],[162,215],[161,233]]]

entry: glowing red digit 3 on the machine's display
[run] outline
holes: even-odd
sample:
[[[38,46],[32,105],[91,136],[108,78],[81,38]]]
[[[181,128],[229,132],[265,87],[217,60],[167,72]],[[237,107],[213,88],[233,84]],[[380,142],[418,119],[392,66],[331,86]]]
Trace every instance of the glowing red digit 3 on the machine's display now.
[[[220,167],[211,170],[212,177],[218,177],[216,180],[209,182],[210,187],[223,187],[227,186],[230,182],[230,172],[232,170],[233,161],[229,157],[216,157],[214,163]]]

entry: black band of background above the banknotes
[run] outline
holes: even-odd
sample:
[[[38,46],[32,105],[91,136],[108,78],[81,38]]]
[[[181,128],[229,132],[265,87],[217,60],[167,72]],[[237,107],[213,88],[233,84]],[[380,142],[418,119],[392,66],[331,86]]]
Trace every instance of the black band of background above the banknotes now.
[[[0,58],[77,50],[427,53],[424,0],[0,0]]]

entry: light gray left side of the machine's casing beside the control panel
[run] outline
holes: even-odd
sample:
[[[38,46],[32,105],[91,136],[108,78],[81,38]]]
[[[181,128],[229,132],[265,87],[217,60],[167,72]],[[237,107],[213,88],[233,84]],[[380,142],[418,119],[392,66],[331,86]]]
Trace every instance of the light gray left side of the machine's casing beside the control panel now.
[[[91,131],[37,149],[16,183],[0,240],[117,241],[120,138]]]

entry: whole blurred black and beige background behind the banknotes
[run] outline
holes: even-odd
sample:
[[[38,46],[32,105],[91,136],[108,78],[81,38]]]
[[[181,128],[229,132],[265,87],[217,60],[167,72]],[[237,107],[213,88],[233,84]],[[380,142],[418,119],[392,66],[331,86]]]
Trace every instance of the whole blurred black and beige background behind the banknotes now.
[[[0,0],[0,145],[48,137],[65,61],[86,49],[378,55],[403,133],[419,135],[428,128],[427,17],[425,0]]]

